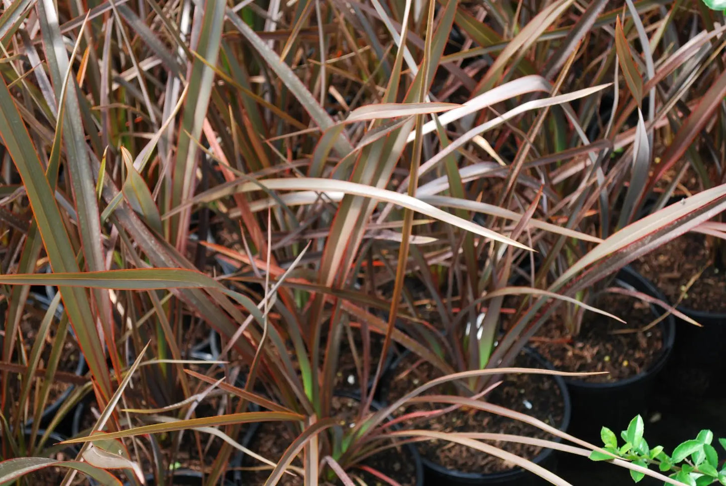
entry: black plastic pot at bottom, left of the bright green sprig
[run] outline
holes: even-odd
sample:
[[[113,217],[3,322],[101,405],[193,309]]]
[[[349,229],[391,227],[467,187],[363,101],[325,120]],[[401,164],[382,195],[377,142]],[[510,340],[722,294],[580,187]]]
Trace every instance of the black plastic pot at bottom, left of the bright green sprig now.
[[[525,348],[523,352],[531,357],[539,368],[552,370],[552,365],[548,363],[542,356],[537,353],[534,349]],[[403,362],[406,354],[401,355],[396,362],[391,365],[391,373],[395,373],[396,368]],[[566,432],[570,424],[572,403],[571,397],[568,392],[568,387],[561,376],[551,376],[555,380],[558,389],[560,390],[560,396],[563,400],[563,416],[562,423],[558,426],[558,430]],[[469,431],[469,432],[497,432],[494,430],[486,431]],[[560,442],[559,438],[553,439],[556,442]],[[555,451],[552,449],[542,449],[542,451],[531,459],[531,462],[542,466],[548,471],[555,471],[558,463],[558,456],[555,455]],[[424,485],[425,486],[477,486],[477,485],[497,485],[497,486],[544,486],[549,485],[546,479],[537,476],[530,471],[524,469],[515,468],[509,471],[502,471],[491,474],[481,474],[473,472],[456,471],[454,469],[448,469],[441,464],[431,461],[428,458],[421,456],[421,463],[423,464],[424,474]]]

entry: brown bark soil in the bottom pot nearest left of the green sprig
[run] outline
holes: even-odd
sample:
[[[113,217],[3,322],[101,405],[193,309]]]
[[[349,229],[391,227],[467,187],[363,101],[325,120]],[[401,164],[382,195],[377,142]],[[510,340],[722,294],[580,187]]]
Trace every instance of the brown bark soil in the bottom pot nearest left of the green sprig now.
[[[536,360],[526,355],[521,356],[516,365],[542,368],[542,365]],[[393,373],[395,374],[384,395],[388,402],[410,392],[418,384],[441,376],[439,370],[428,363],[420,362],[415,355],[411,354],[402,358],[402,362]],[[487,401],[539,418],[551,426],[558,427],[562,424],[564,400],[557,382],[552,377],[521,374],[507,375],[502,379],[504,380],[502,384],[489,394]],[[451,393],[454,393],[454,390],[443,387],[436,387],[429,392],[429,394]],[[415,403],[401,407],[397,410],[396,415],[416,410],[439,410],[446,406],[436,403]],[[404,424],[404,427],[440,432],[493,432],[554,439],[551,434],[547,434],[535,426],[473,409],[454,410],[436,418],[425,418],[425,421],[410,421]],[[534,458],[542,450],[541,447],[514,442],[492,442],[492,444],[527,459]],[[457,471],[491,474],[515,468],[513,463],[503,461],[494,455],[451,442],[431,440],[420,442],[417,447],[424,458]]]

